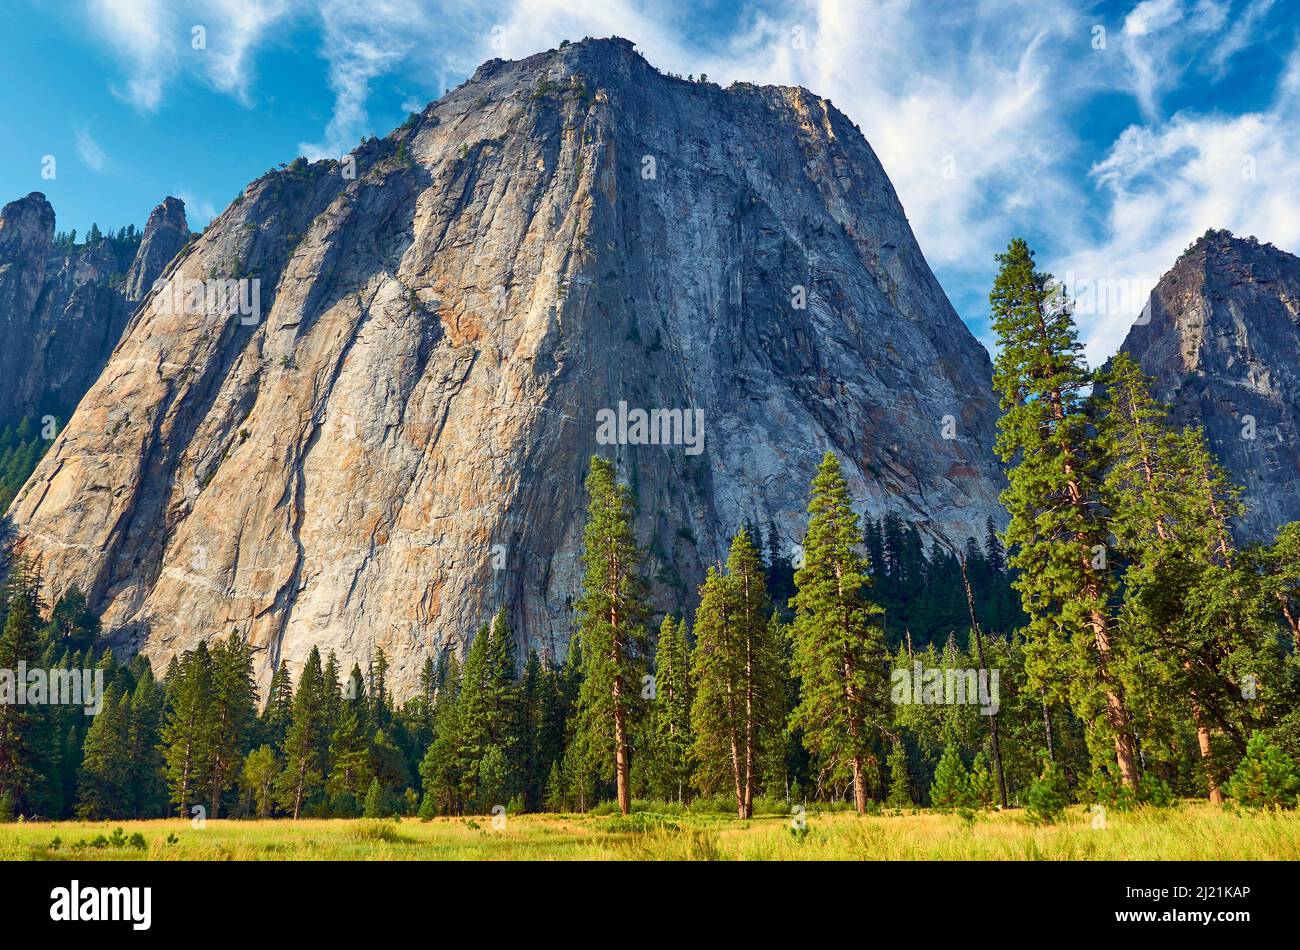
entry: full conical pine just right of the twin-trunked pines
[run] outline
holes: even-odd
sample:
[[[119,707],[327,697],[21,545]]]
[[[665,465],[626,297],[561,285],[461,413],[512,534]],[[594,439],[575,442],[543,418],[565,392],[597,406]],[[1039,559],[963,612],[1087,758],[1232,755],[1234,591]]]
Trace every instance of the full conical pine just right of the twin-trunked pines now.
[[[793,665],[801,681],[790,726],[824,764],[848,767],[858,812],[867,807],[872,739],[889,721],[881,610],[863,590],[858,516],[833,452],[812,480],[803,567],[794,574]]]

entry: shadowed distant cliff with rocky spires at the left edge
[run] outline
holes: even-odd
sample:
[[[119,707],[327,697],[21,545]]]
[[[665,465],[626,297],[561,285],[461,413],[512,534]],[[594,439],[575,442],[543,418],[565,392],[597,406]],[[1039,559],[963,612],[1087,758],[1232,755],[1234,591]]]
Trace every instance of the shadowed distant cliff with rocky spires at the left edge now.
[[[138,250],[113,238],[56,244],[40,192],[0,209],[0,420],[66,418],[187,235],[176,198],[155,209]]]

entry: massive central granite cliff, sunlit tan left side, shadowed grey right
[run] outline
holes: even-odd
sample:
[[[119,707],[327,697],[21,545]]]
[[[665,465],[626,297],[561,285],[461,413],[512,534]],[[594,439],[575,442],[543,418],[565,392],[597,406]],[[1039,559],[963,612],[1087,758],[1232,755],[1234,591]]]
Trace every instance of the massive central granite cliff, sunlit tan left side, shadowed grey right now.
[[[939,542],[1000,519],[988,356],[802,88],[684,82],[618,39],[494,60],[254,182],[165,278],[208,304],[144,302],[10,509],[51,587],[156,664],[242,630],[264,687],[380,646],[404,694],[498,604],[563,656],[594,452],[663,610],[741,522],[802,537],[827,450],[861,509]],[[699,411],[702,451],[633,444],[637,409]]]

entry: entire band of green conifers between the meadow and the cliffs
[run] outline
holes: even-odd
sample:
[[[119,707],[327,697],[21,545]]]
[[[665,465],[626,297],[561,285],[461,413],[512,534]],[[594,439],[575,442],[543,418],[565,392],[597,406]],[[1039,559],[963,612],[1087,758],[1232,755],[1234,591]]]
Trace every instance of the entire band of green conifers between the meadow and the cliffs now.
[[[20,563],[0,668],[99,664],[107,695],[88,725],[0,707],[0,812],[1294,804],[1300,525],[1238,546],[1240,490],[1202,433],[1169,422],[1127,356],[1086,368],[1069,300],[1023,242],[1000,263],[1001,535],[927,552],[914,528],[854,512],[828,452],[794,556],[742,526],[693,613],[655,623],[632,493],[593,457],[563,664],[520,659],[498,612],[400,704],[382,652],[344,677],[313,648],[296,682],[281,659],[259,707],[235,634],[155,681],[143,658],[113,661],[78,591],[47,616]],[[926,671],[924,689],[900,695],[900,671]],[[937,687],[976,671],[996,671],[996,702]]]

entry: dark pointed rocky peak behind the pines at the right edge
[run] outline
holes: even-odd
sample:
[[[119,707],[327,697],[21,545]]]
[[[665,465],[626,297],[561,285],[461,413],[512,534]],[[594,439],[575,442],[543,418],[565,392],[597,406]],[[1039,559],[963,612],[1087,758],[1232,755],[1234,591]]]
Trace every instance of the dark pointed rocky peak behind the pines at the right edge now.
[[[1122,350],[1199,424],[1249,512],[1243,541],[1300,520],[1300,257],[1209,231],[1165,274]]]

